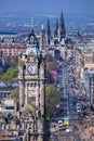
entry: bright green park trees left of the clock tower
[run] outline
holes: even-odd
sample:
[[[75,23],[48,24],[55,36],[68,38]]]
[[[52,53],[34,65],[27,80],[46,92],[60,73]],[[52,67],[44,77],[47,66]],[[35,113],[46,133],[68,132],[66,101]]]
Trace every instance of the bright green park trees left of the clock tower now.
[[[17,82],[18,59],[4,56],[4,66],[0,66],[0,82]]]

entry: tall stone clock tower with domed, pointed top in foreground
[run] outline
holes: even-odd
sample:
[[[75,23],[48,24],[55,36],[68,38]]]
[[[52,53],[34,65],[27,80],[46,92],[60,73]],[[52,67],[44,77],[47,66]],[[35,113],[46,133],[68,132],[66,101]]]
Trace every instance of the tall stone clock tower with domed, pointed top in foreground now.
[[[43,53],[39,50],[33,29],[28,37],[26,52],[19,54],[18,62],[19,112],[22,115],[23,112],[32,114],[32,121],[27,124],[28,129],[25,128],[25,126],[24,128],[26,132],[29,130],[28,141],[43,141],[45,116],[45,59]]]

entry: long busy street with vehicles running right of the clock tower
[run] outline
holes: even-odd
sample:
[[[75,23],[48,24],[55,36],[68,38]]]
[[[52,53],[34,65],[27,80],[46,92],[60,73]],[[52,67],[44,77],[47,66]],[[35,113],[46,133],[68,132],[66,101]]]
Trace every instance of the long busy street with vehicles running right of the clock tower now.
[[[54,115],[55,127],[51,128],[52,141],[81,141],[80,132],[83,112],[77,110],[76,104],[79,103],[79,98],[73,93],[72,86],[75,80],[69,77],[71,74],[71,65],[65,62],[63,66],[58,68],[58,88],[61,91],[61,112]],[[69,126],[65,128],[58,124],[59,120],[64,120],[65,117],[69,118]],[[52,123],[53,125],[53,123]]]

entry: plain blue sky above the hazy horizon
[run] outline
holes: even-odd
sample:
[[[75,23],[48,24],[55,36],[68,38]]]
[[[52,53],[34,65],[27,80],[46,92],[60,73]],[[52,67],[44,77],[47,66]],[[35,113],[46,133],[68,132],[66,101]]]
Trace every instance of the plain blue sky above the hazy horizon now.
[[[94,0],[0,0],[0,12],[94,15]]]

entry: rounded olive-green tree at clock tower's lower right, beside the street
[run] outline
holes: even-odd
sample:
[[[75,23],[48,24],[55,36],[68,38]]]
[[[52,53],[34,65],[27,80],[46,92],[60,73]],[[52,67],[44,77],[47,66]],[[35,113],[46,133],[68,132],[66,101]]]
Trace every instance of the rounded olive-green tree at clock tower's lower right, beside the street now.
[[[46,118],[54,113],[56,104],[58,104],[61,93],[54,85],[50,85],[45,88],[45,115]]]

